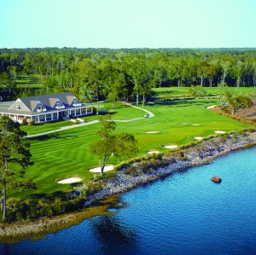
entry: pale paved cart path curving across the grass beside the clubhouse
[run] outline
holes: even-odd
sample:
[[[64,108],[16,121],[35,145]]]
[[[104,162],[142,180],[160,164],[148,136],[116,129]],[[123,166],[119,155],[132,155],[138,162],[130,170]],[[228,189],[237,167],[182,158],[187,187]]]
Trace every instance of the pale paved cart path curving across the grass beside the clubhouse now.
[[[148,113],[148,118],[153,118],[154,117],[154,113],[151,113],[150,111],[148,111],[146,109],[143,109],[141,107],[133,106],[130,103],[126,103],[126,105],[130,106],[130,107],[135,107],[135,108],[137,108],[139,110],[142,110],[145,113]],[[113,119],[113,121],[114,122],[131,122],[131,121],[138,120],[138,119],[145,119],[145,118],[142,117],[142,118],[135,118],[135,119]],[[93,124],[96,124],[98,122],[99,122],[99,120],[95,119],[95,120],[91,120],[89,122],[84,122],[84,123],[81,123],[81,124],[67,125],[67,126],[61,127],[58,130],[50,130],[50,131],[46,131],[46,132],[43,132],[43,133],[38,133],[38,134],[34,134],[34,135],[28,135],[28,136],[26,136],[26,138],[36,137],[36,136],[44,136],[44,135],[48,135],[48,134],[51,134],[51,133],[60,132],[62,130],[74,129],[74,128],[81,127],[81,126],[84,126],[84,125],[93,125]]]

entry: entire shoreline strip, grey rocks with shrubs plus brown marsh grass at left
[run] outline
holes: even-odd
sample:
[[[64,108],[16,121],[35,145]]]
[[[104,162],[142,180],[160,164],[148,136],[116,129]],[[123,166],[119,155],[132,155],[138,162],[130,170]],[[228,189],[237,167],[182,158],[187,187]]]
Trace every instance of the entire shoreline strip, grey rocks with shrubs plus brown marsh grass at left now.
[[[98,214],[98,208],[93,206],[101,200],[114,194],[122,194],[144,183],[152,182],[162,177],[167,177],[177,171],[185,171],[189,168],[205,165],[231,151],[248,148],[256,145],[256,132],[230,133],[218,136],[210,136],[200,142],[192,142],[181,146],[168,154],[147,156],[148,158],[123,165],[111,178],[103,178],[102,189],[87,197],[84,206],[88,207],[84,212],[62,215],[53,218],[42,218],[34,222],[12,223],[0,226],[0,241],[19,241],[32,238],[34,235],[45,235],[61,228],[79,223],[84,218]],[[81,192],[86,185],[76,191]],[[101,205],[102,206],[102,205]],[[108,205],[109,206],[109,205]],[[108,206],[104,205],[106,213]],[[114,206],[112,204],[112,206]],[[78,221],[79,218],[79,221]]]

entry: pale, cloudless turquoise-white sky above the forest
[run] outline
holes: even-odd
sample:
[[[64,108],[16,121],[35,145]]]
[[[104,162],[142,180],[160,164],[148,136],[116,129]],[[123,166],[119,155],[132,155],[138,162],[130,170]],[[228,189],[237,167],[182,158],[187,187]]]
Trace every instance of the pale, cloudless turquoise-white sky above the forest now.
[[[0,48],[251,48],[256,0],[0,0]]]

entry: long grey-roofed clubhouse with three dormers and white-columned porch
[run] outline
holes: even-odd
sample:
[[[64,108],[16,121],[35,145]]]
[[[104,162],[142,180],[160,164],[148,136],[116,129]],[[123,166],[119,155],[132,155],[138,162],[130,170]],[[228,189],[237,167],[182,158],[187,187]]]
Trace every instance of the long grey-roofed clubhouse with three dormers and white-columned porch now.
[[[13,102],[8,108],[0,111],[0,116],[9,116],[14,121],[35,123],[55,121],[57,119],[71,119],[91,114],[92,105],[81,103],[70,92],[45,96],[22,97]]]

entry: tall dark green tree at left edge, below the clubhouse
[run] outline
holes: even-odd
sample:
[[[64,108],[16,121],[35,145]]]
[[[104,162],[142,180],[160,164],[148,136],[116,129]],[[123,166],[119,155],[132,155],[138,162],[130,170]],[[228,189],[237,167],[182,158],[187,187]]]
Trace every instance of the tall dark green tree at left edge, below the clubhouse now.
[[[1,211],[3,212],[3,221],[6,217],[6,188],[22,187],[19,177],[24,176],[24,169],[32,165],[29,144],[20,142],[20,136],[26,136],[26,132],[20,130],[19,124],[7,116],[0,119],[0,169],[2,172],[2,200]],[[10,164],[11,163],[11,167]],[[20,165],[20,176],[17,178],[17,168]],[[14,178],[13,178],[14,177]],[[24,183],[23,183],[24,184]]]

